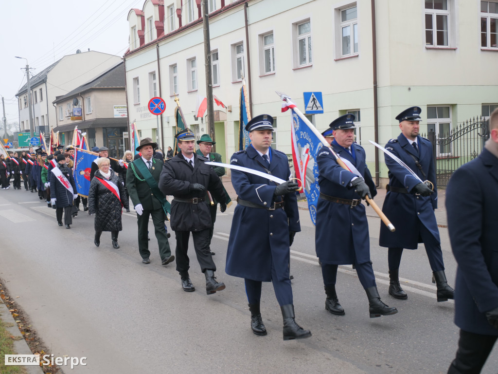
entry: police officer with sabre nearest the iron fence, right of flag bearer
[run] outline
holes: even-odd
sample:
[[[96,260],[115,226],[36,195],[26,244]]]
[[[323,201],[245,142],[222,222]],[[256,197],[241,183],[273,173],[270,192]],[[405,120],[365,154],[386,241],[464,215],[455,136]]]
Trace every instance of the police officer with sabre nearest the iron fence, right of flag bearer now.
[[[381,225],[379,244],[389,248],[389,294],[402,300],[408,297],[399,285],[398,278],[403,248],[417,249],[418,243],[424,243],[437,285],[439,302],[453,299],[454,291],[448,285],[444,273],[441,240],[434,215],[434,209],[437,208],[437,188],[432,145],[418,135],[420,112],[419,107],[410,107],[398,114],[396,119],[399,121],[401,134],[385,145],[385,149],[401,159],[419,179],[389,156],[384,157],[385,165],[389,168],[389,185],[386,187],[382,211],[396,227],[396,231],[391,232]],[[429,181],[430,184],[421,181]]]

